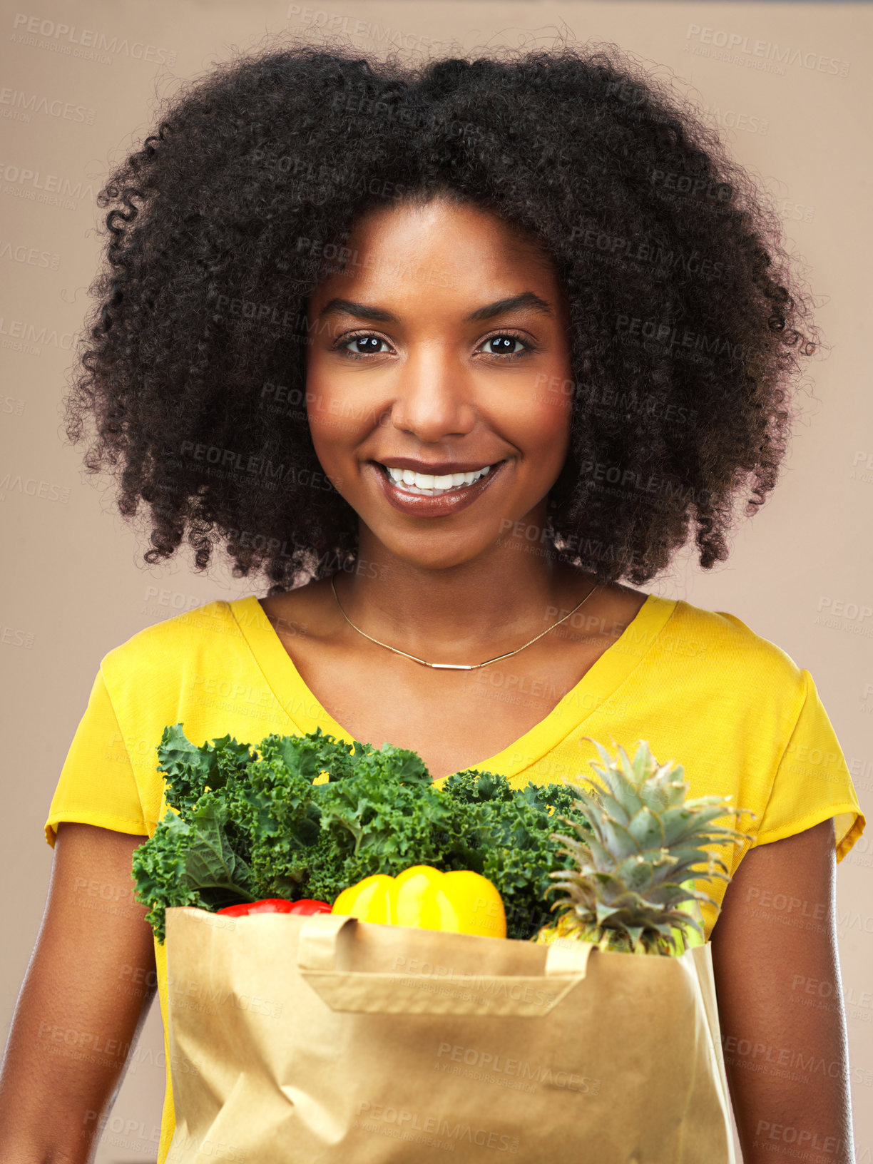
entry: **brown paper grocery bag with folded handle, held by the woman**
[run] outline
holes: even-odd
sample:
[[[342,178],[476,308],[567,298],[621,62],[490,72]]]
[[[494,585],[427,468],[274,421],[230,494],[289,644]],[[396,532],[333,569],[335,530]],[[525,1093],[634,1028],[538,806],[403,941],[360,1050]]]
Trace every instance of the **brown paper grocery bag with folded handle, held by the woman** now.
[[[166,1164],[734,1164],[709,945],[166,910]]]

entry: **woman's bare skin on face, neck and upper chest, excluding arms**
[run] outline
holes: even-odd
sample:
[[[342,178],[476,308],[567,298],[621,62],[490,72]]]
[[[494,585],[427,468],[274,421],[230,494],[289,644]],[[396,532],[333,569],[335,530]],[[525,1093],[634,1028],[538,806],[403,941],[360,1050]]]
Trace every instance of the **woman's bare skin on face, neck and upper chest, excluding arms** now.
[[[531,553],[530,542],[505,535],[506,523],[544,527],[548,490],[567,454],[569,397],[540,386],[570,377],[560,282],[514,230],[440,199],[368,215],[348,248],[357,262],[325,279],[310,299],[306,369],[315,452],[360,518],[361,569],[335,577],[340,602],[367,634],[418,658],[494,659],[546,631],[595,585],[591,575],[555,566]],[[411,277],[410,270],[434,277]],[[549,313],[517,307],[464,321],[524,292]],[[397,322],[322,315],[335,298],[381,307]],[[506,332],[537,350],[499,355],[499,343],[489,340]],[[354,334],[383,342],[376,354],[364,349],[353,359],[336,345],[360,352],[348,339]],[[509,348],[524,350],[521,342]],[[384,499],[370,464],[398,456],[506,464],[461,512],[411,517]],[[353,738],[412,747],[439,778],[495,755],[545,718],[646,597],[624,585],[598,589],[579,612],[585,623],[574,619],[491,663],[495,682],[545,688],[519,703],[485,698],[482,670],[434,670],[370,643],[343,618],[329,580],[262,599],[262,606],[304,682]]]

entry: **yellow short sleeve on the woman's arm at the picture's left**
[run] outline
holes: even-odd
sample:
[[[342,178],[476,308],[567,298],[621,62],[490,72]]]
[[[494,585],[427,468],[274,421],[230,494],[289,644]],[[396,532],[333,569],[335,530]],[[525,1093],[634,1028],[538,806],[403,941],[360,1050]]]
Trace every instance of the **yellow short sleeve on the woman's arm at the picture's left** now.
[[[136,778],[102,669],[97,673],[49,807],[45,839],[52,849],[61,821],[148,836]]]

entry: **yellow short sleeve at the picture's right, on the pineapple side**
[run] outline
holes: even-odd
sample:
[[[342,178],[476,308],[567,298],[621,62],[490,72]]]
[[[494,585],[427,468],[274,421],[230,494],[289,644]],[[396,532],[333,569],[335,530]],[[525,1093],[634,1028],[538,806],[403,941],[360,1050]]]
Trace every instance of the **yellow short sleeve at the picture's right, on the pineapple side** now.
[[[801,670],[801,676],[803,703],[758,822],[755,845],[792,837],[833,817],[837,861],[842,861],[864,832],[866,818],[812,676],[808,670]]]

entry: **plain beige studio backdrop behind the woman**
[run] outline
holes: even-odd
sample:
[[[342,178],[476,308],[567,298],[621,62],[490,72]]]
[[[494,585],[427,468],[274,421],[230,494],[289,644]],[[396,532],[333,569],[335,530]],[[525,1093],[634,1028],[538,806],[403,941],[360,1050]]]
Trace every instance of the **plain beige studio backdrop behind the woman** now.
[[[189,556],[142,563],[146,545],[65,445],[61,399],[99,240],[94,204],[111,159],[150,130],[155,95],[264,34],[345,31],[362,54],[523,42],[562,29],[616,41],[675,73],[773,193],[808,267],[831,346],[809,361],[781,484],[739,525],[730,561],[686,555],[644,589],[737,615],[812,674],[873,808],[873,400],[861,329],[870,311],[873,14],[853,3],[584,0],[108,0],[5,3],[0,119],[0,520],[6,830],[0,1023],[6,1042],[45,900],[43,822],[102,655],[144,626],[217,597],[262,595]],[[870,833],[870,830],[868,830]],[[856,1148],[873,1151],[873,839],[838,867]],[[786,918],[787,920],[787,918]],[[775,918],[780,921],[780,918]],[[149,1162],[163,1092],[154,1003],[100,1142],[98,1164]],[[815,1083],[811,1081],[814,1087]],[[785,1147],[785,1145],[782,1145]],[[599,1162],[598,1162],[599,1164]],[[609,1164],[609,1162],[603,1162]]]

